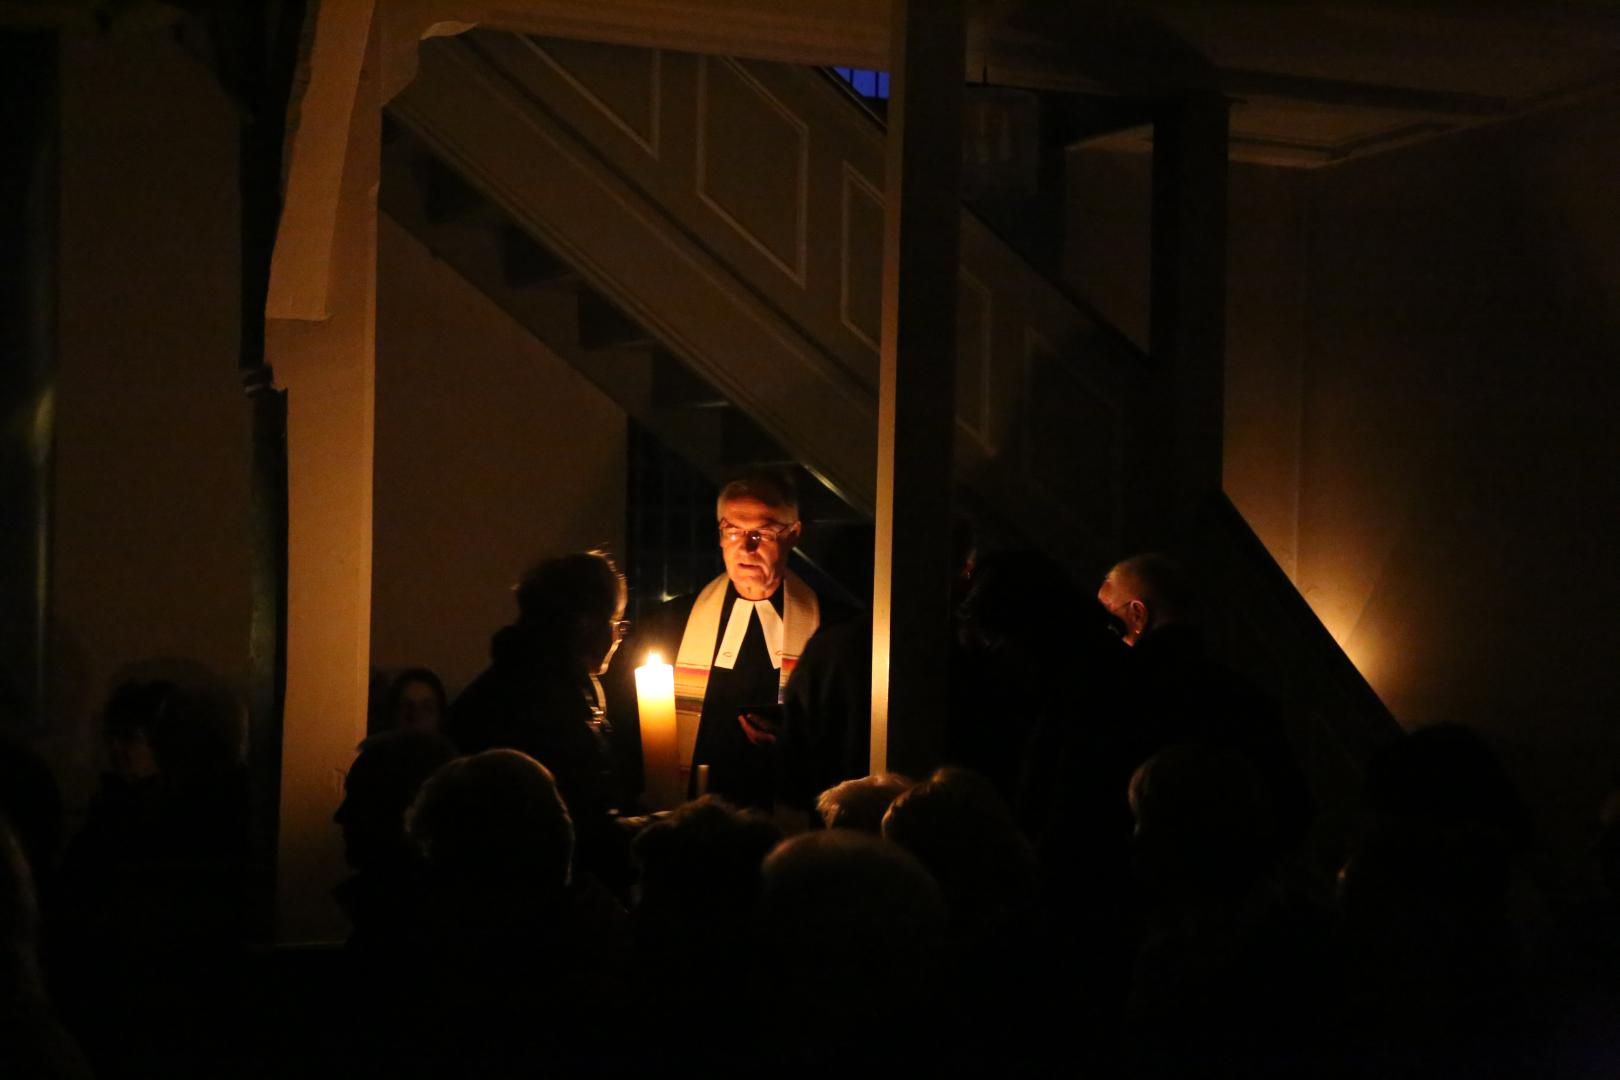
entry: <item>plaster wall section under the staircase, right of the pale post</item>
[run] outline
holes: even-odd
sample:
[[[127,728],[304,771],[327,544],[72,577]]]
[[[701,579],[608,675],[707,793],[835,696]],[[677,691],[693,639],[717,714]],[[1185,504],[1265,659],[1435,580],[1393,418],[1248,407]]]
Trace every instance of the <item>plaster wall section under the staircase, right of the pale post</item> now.
[[[371,657],[454,695],[543,555],[624,551],[624,411],[381,219]]]

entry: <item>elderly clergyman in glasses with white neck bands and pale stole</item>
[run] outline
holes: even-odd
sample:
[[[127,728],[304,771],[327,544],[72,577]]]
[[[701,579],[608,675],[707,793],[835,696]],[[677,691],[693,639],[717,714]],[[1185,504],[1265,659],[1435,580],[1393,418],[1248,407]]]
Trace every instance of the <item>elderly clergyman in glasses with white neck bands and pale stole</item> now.
[[[708,790],[740,806],[771,806],[773,743],[782,687],[823,623],[823,604],[787,555],[799,541],[799,497],[773,473],[726,484],[716,500],[726,573],[643,620],[609,675],[609,709],[620,730],[635,716],[629,674],[648,653],[676,665],[682,759],[708,766]]]

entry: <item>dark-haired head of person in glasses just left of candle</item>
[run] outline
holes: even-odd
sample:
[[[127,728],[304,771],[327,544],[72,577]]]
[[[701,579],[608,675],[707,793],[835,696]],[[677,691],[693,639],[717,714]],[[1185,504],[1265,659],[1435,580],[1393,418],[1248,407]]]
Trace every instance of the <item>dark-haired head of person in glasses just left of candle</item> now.
[[[625,583],[608,552],[586,551],[535,563],[517,586],[518,627],[548,653],[585,674],[608,670],[629,627]]]

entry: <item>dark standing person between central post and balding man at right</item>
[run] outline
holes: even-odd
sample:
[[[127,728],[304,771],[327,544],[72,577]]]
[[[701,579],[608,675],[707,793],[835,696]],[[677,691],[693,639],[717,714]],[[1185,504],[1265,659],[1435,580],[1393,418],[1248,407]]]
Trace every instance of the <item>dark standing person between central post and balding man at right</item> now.
[[[1129,806],[1118,706],[1124,646],[1063,568],[1034,551],[978,560],[957,609],[964,646],[948,759],[983,772],[1035,845],[1051,954],[1082,1065],[1111,1038],[1129,975]],[[1119,776],[1121,769],[1124,776]]]

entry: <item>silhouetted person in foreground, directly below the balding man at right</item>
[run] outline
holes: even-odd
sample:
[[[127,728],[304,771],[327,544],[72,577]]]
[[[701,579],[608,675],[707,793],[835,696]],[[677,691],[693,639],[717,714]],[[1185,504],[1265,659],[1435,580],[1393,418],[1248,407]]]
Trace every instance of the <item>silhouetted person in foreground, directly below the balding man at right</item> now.
[[[1131,805],[1131,1074],[1333,1075],[1330,920],[1280,866],[1260,769],[1230,746],[1178,743],[1137,769]]]

